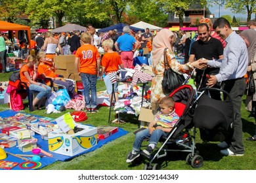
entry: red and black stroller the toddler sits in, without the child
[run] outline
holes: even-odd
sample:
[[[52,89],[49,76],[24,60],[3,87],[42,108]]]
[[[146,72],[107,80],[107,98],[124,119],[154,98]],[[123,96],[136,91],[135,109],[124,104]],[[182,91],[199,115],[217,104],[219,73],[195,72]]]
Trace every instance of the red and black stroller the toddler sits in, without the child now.
[[[192,167],[202,167],[203,158],[198,155],[198,152],[195,152],[196,130],[194,129],[193,134],[190,135],[190,129],[194,127],[192,118],[197,104],[196,91],[191,85],[184,84],[176,88],[169,97],[172,97],[175,101],[175,112],[180,118],[169,133],[165,137],[161,137],[160,148],[157,148],[156,154],[150,156],[150,162],[145,164],[144,170],[160,169],[158,163],[154,163],[154,165],[152,163],[155,159],[167,156],[167,152],[190,152],[186,157],[186,163],[192,165]],[[142,154],[144,153],[142,152]],[[132,156],[131,152],[127,155],[128,158],[129,156]],[[131,163],[133,165],[141,163],[142,159],[140,158],[141,156],[137,156]]]

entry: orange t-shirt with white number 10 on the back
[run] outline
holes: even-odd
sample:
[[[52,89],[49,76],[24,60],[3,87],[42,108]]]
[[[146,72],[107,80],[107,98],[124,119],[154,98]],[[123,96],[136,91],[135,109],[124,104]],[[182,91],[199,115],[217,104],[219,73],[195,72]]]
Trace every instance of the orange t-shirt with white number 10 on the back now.
[[[77,49],[75,58],[80,59],[80,73],[96,75],[96,59],[100,59],[100,54],[98,54],[98,50],[95,46],[83,44],[83,46]]]

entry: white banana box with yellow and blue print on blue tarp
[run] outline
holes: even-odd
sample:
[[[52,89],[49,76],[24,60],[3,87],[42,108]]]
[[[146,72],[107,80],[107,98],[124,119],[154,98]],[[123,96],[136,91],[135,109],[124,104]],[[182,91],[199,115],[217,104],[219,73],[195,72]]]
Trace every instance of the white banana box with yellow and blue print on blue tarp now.
[[[66,156],[75,156],[97,144],[97,128],[88,125],[77,125],[82,131],[72,135],[56,131],[48,133],[48,147],[51,152]]]

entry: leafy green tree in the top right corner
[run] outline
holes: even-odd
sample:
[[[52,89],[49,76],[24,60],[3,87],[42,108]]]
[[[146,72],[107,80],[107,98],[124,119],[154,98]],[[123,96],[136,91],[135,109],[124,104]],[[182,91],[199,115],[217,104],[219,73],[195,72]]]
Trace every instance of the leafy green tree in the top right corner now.
[[[225,7],[231,8],[233,13],[247,13],[247,22],[251,20],[251,14],[256,14],[255,0],[226,0]]]

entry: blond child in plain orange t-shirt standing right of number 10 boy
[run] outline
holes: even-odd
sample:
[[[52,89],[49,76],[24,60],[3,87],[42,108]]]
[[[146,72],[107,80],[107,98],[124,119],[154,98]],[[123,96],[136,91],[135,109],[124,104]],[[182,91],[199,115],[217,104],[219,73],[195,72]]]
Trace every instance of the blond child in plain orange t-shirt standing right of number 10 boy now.
[[[104,82],[106,85],[106,89],[108,92],[108,96],[110,97],[110,103],[112,103],[112,80],[110,78],[116,79],[116,71],[118,71],[118,66],[120,65],[121,69],[123,69],[123,64],[121,62],[121,57],[117,52],[113,51],[114,41],[112,39],[107,39],[102,42],[102,46],[104,48],[104,52],[106,52],[102,58],[102,75],[106,73],[104,77]],[[111,74],[111,76],[109,75]],[[102,75],[100,76],[100,80],[102,80]],[[114,93],[115,93],[115,101],[118,101],[118,83],[114,83]]]

